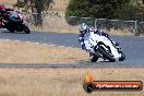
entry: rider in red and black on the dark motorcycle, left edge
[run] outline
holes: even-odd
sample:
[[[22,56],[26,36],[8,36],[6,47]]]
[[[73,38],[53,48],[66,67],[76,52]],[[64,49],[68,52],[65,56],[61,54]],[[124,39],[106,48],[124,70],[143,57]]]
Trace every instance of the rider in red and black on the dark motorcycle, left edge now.
[[[2,26],[2,20],[8,19],[8,11],[13,11],[13,9],[5,8],[3,4],[0,4],[0,28]]]

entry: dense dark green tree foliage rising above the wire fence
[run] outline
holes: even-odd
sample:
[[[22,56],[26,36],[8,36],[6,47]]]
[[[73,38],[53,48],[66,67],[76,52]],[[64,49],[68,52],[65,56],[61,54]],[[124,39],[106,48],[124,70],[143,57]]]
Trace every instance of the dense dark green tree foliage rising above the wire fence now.
[[[130,0],[70,0],[67,16],[122,19]]]

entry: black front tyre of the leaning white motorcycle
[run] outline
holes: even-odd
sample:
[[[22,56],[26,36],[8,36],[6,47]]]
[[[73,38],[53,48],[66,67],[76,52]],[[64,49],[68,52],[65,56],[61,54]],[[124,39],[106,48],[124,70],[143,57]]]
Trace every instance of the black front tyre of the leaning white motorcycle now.
[[[100,46],[97,48],[98,52],[101,53],[106,59],[108,59],[110,62],[115,62],[116,59],[110,56],[104,48],[101,48]]]

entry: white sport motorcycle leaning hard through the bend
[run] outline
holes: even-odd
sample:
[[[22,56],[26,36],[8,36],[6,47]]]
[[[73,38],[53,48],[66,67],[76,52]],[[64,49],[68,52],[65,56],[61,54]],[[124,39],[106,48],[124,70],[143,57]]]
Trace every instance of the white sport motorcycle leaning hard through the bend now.
[[[92,62],[96,62],[98,58],[109,60],[110,62],[123,61],[125,59],[125,55],[119,45],[116,45],[108,37],[98,35],[95,32],[89,33],[84,44],[86,49],[94,53],[94,57],[91,58]]]

